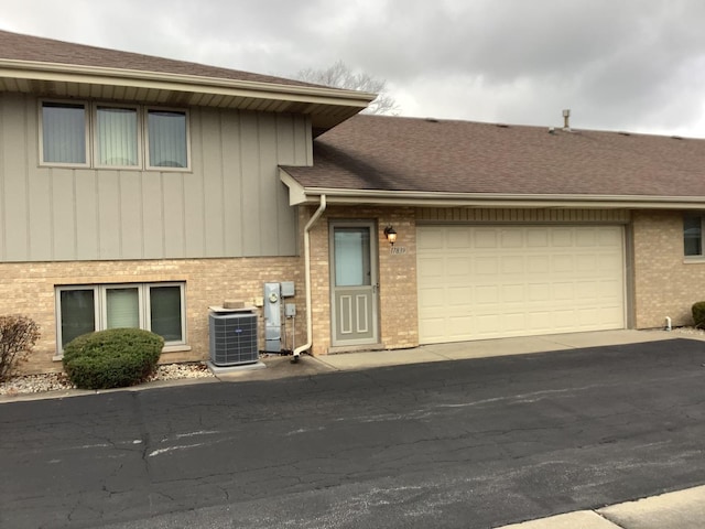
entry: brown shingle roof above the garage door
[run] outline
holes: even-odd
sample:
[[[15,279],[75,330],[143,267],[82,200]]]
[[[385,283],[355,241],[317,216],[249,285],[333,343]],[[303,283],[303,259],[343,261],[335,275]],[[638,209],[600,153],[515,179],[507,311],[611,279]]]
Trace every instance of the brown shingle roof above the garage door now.
[[[314,142],[306,188],[705,196],[705,140],[356,116]]]

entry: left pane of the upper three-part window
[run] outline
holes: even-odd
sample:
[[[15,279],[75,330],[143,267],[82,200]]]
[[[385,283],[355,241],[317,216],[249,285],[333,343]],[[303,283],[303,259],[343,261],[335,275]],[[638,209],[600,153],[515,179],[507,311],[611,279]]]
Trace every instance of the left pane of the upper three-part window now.
[[[42,104],[42,149],[45,163],[86,163],[84,105]]]

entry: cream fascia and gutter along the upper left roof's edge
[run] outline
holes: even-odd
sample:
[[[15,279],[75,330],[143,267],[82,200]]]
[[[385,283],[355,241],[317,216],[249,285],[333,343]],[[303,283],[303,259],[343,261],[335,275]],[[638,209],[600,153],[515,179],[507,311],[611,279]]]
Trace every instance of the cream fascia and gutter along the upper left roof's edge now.
[[[268,99],[275,95],[276,99],[291,101],[359,106],[362,108],[377,97],[377,94],[338,88],[15,60],[0,60],[0,76],[98,85],[116,85],[116,79],[120,79],[119,84],[138,88],[161,88],[240,97],[263,97]]]

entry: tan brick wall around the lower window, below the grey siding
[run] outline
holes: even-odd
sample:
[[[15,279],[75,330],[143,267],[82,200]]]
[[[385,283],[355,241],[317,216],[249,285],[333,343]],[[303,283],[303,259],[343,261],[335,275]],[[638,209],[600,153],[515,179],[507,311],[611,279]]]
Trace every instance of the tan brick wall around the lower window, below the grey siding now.
[[[207,358],[208,306],[221,305],[226,299],[252,303],[262,296],[264,282],[294,281],[296,296],[286,301],[296,303],[301,313],[304,309],[303,260],[299,257],[0,263],[0,314],[24,314],[41,325],[42,337],[30,361],[22,366],[24,373],[62,369],[61,361],[54,359],[56,285],[185,281],[191,350],[164,353],[162,361]],[[297,317],[296,327],[296,343],[303,343],[305,319]],[[263,348],[262,320],[259,331]]]

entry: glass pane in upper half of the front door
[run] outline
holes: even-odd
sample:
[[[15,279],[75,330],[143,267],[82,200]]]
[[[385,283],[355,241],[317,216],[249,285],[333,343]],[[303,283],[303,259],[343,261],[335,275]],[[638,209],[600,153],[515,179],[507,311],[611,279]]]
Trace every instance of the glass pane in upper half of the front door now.
[[[369,228],[335,228],[335,284],[372,284]]]

